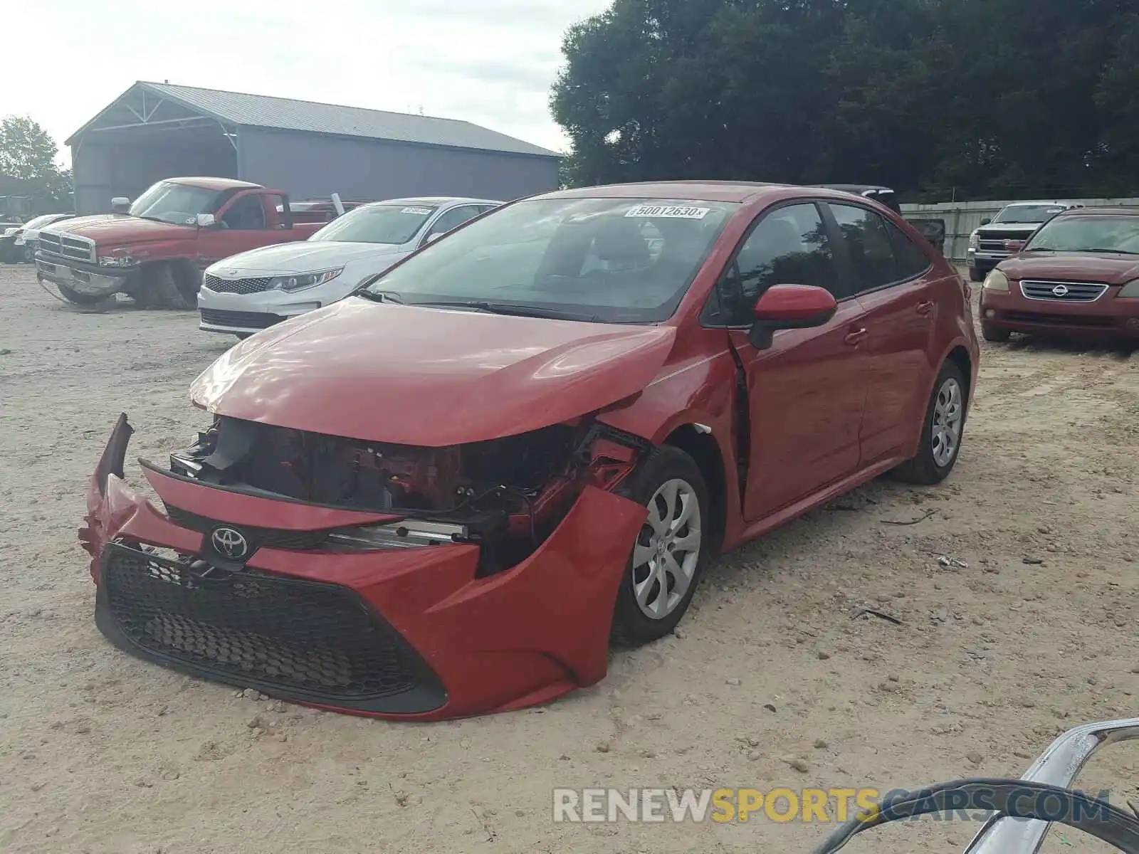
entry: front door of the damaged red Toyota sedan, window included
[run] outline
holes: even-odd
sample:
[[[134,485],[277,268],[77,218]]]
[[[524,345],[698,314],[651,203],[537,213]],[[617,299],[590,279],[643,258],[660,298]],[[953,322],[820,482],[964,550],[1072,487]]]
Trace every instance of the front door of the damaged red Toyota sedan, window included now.
[[[785,329],[756,350],[748,342],[756,301],[772,285],[814,285],[838,299],[817,329]],[[747,383],[747,519],[771,515],[859,465],[866,397],[866,310],[849,296],[834,241],[814,203],[762,213],[719,287],[718,312]]]

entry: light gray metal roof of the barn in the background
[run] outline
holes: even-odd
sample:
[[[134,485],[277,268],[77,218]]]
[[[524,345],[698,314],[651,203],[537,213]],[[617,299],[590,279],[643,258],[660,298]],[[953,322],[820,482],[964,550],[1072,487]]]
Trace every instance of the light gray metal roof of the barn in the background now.
[[[220,89],[199,89],[197,87],[139,81],[120,96],[116,101],[140,89],[161,98],[178,101],[182,106],[204,113],[219,122],[236,125],[366,137],[368,139],[418,142],[451,148],[475,148],[485,151],[527,154],[540,157],[562,156],[556,151],[524,142],[505,133],[456,118],[387,113],[380,109],[364,109],[363,107],[342,107],[334,104],[274,98],[268,95],[245,95],[226,92]],[[103,110],[99,116],[83,125],[72,134],[72,139],[80,137],[106,112],[106,109]],[[68,145],[72,139],[67,140]]]

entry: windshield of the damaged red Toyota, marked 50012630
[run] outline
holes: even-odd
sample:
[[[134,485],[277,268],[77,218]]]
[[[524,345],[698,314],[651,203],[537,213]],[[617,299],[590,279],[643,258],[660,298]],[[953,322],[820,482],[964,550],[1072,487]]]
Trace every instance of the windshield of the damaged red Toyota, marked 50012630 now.
[[[656,322],[680,304],[739,205],[560,198],[519,202],[474,221],[367,288],[404,303],[480,302]]]

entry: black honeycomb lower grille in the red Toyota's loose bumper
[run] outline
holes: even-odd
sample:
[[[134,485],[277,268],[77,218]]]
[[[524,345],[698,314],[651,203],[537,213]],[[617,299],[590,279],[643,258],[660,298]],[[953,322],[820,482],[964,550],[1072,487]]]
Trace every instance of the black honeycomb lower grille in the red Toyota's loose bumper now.
[[[426,664],[347,588],[251,569],[203,577],[199,566],[109,544],[101,586],[118,640],[294,699],[366,707],[413,693],[419,711],[445,700]]]

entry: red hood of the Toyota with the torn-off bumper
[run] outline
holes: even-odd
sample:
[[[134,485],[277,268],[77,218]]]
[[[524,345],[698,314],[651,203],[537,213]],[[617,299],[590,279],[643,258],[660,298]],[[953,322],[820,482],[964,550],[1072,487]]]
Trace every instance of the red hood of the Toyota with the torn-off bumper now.
[[[439,447],[534,430],[636,394],[674,336],[667,326],[350,298],[241,342],[190,396],[231,418]]]

